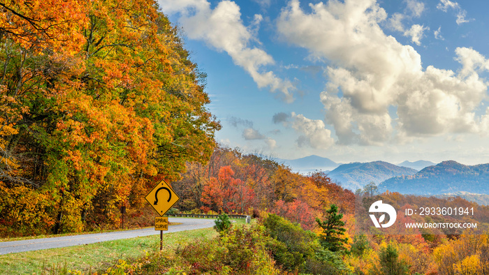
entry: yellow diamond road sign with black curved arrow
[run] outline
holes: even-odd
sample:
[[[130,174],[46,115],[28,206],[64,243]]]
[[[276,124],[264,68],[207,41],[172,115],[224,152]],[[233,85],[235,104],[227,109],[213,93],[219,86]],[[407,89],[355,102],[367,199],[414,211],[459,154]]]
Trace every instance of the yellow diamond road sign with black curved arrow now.
[[[163,216],[166,211],[170,210],[180,200],[180,197],[165,181],[160,181],[159,184],[156,184],[145,198],[160,216]]]

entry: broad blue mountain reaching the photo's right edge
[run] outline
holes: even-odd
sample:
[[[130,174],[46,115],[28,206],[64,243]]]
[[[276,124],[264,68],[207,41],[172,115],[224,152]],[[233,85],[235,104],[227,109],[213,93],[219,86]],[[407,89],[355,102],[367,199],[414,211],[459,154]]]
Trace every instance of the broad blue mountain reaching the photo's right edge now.
[[[411,176],[387,179],[379,185],[379,191],[386,190],[419,195],[456,192],[489,194],[489,163],[469,166],[444,161]]]

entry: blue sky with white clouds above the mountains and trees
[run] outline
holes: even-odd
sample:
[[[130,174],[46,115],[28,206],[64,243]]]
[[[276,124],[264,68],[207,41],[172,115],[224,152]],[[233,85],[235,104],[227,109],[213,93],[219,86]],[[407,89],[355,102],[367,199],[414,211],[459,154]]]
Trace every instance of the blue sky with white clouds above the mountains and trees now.
[[[279,158],[489,163],[486,1],[159,0],[217,140]]]

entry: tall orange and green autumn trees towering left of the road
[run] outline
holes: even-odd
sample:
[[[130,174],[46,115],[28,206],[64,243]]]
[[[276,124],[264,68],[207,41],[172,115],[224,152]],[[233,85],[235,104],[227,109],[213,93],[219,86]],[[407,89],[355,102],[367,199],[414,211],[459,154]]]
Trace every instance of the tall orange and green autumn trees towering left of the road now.
[[[1,225],[116,223],[206,163],[220,124],[183,44],[151,0],[1,1]]]

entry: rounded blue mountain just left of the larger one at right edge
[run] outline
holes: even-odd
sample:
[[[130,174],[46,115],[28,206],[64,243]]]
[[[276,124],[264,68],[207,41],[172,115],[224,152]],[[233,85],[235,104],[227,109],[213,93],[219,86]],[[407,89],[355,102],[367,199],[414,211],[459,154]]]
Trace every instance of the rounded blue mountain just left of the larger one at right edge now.
[[[416,170],[393,165],[384,161],[371,163],[348,163],[340,165],[329,172],[328,177],[340,183],[343,188],[356,191],[358,188],[374,182],[380,184],[382,181],[400,175],[416,174]]]

